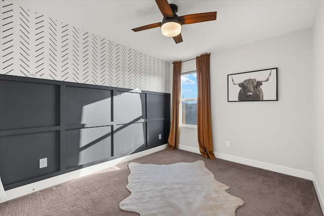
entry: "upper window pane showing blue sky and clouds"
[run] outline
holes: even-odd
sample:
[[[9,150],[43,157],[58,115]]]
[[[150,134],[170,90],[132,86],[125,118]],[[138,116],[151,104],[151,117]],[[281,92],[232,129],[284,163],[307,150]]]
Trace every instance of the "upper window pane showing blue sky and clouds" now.
[[[197,98],[197,73],[181,75],[181,98]]]

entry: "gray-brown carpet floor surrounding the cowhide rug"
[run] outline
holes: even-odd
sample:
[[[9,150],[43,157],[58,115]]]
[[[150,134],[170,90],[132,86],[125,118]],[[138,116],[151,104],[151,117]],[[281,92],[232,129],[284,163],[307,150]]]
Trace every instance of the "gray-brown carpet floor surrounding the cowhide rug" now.
[[[215,179],[230,187],[227,193],[245,201],[236,209],[236,215],[323,215],[313,183],[308,180],[182,150],[163,150],[132,162],[196,160],[205,161]],[[1,203],[0,215],[139,215],[119,208],[119,202],[130,195],[126,189],[128,163]]]

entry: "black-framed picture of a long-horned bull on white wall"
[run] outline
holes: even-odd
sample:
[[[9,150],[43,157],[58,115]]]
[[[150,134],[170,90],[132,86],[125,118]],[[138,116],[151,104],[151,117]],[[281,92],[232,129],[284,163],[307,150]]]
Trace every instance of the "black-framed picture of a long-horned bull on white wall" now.
[[[227,75],[227,101],[277,101],[277,69]]]

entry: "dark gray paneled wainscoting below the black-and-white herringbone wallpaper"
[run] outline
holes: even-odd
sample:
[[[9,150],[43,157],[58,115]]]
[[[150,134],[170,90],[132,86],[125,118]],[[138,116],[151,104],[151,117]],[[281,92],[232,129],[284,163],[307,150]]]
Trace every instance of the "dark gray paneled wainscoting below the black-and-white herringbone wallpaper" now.
[[[0,74],[0,119],[9,190],[167,143],[170,94]]]

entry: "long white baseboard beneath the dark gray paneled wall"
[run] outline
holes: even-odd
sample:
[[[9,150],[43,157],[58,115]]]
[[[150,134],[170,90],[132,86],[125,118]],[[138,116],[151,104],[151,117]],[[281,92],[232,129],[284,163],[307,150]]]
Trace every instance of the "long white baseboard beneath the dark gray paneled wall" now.
[[[102,169],[117,165],[119,163],[123,163],[123,162],[129,161],[129,160],[133,160],[133,159],[136,159],[136,158],[139,158],[139,157],[142,157],[142,156],[145,156],[145,155],[148,155],[148,154],[151,154],[151,153],[154,153],[154,152],[166,149],[166,148],[167,148],[167,144],[161,145],[161,146],[151,148],[151,149],[148,149],[148,150],[145,150],[145,151],[141,151],[141,152],[138,152],[138,153],[135,153],[135,154],[127,155],[127,156],[120,157],[120,158],[117,158],[117,159],[114,159],[114,160],[99,163],[99,164],[96,164],[96,165],[93,165],[93,166],[88,166],[88,167],[85,167],[85,168],[82,168],[82,169],[67,172],[66,174],[55,176],[55,177],[52,177],[52,178],[49,178],[49,179],[45,179],[45,180],[41,180],[41,181],[38,181],[38,182],[30,183],[28,185],[24,185],[24,186],[21,186],[21,187],[18,187],[18,188],[13,188],[13,189],[5,191],[6,192],[6,197],[1,198],[0,203],[9,201],[11,199],[15,199],[17,197],[21,197],[21,196],[24,196],[24,195],[27,195],[27,194],[30,194],[30,193],[34,193],[36,191],[40,191],[40,190],[43,190],[45,188],[49,188],[49,187],[52,187],[52,186],[55,186],[55,185],[58,185],[58,184],[61,184],[61,183],[76,179],[76,178],[79,178],[79,177],[83,177],[83,176],[92,174],[93,172],[100,171]]]

